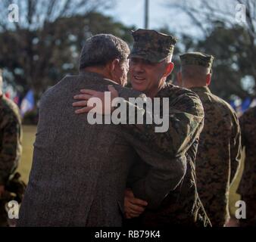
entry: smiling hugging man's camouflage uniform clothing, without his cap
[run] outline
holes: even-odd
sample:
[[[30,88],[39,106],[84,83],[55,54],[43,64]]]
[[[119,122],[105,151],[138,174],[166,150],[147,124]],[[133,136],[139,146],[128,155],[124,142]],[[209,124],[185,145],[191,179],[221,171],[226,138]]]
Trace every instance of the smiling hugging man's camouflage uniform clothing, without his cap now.
[[[139,222],[139,225],[157,227],[209,226],[211,222],[198,197],[195,181],[196,150],[204,123],[201,101],[195,93],[171,84],[165,85],[156,98],[169,98],[169,130],[157,133],[154,125],[147,125],[144,122],[143,125],[124,126],[124,132],[132,134],[151,147],[151,150],[169,157],[170,165],[172,159],[186,157],[186,175],[180,184],[170,191],[158,209],[146,209],[139,219],[132,221],[136,224]],[[135,163],[130,172],[128,187],[133,190],[136,180],[147,174],[150,169],[151,167],[145,166],[144,163]],[[139,198],[146,200],[146,197]]]

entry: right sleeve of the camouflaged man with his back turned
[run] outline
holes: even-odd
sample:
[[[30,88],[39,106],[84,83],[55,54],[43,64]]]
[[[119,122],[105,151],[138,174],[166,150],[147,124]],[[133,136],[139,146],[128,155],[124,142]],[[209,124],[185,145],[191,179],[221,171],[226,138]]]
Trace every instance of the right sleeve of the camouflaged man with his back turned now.
[[[239,120],[236,113],[234,113],[233,124],[233,137],[230,141],[230,184],[236,178],[241,163],[242,144],[241,144],[241,129],[239,126]]]

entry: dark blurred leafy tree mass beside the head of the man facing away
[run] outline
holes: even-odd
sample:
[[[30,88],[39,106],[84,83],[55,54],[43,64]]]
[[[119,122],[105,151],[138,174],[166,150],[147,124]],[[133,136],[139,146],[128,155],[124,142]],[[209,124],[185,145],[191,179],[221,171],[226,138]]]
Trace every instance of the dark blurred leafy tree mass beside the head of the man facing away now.
[[[255,63],[256,56],[248,53],[251,43],[242,26],[226,28],[223,22],[216,22],[209,36],[199,41],[195,48],[213,54],[216,58],[211,83],[214,93],[226,100],[231,95],[242,99],[248,96],[254,97],[253,88],[245,88],[244,81],[248,82],[246,78],[248,76],[253,77],[254,82],[256,81],[251,63]]]

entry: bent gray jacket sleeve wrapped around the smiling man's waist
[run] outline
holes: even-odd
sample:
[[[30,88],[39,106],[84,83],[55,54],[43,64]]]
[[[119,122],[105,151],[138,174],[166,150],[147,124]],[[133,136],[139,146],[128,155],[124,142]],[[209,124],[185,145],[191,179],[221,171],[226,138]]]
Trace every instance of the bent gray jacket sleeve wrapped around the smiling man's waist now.
[[[136,160],[128,181],[135,197],[148,202],[149,209],[158,208],[186,174],[186,156],[171,158],[148,147],[145,142],[128,138],[141,160]]]

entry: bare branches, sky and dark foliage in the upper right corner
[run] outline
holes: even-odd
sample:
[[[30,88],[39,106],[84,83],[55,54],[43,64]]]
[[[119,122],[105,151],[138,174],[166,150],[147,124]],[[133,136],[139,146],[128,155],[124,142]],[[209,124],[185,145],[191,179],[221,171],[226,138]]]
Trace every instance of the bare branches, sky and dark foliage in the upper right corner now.
[[[201,36],[195,39],[181,28],[184,51],[204,51],[215,56],[213,92],[226,100],[232,95],[255,97],[256,1],[169,0],[167,5],[176,8],[176,14],[187,14]]]

